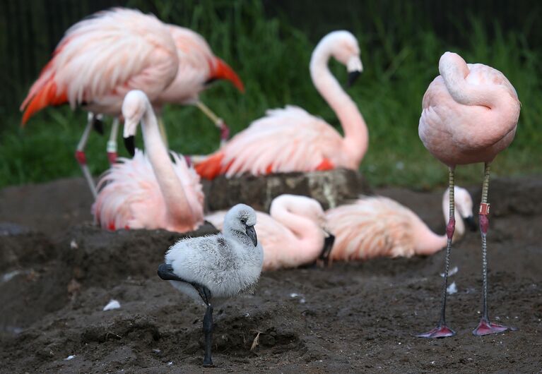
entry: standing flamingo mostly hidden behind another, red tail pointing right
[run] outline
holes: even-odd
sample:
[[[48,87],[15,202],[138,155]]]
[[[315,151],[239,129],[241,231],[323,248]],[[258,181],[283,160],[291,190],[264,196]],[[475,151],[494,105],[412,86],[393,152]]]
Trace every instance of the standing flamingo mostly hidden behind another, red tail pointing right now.
[[[167,25],[167,28],[170,30],[177,47],[179,70],[175,80],[160,93],[153,105],[160,114],[161,105],[167,102],[183,105],[195,104],[220,128],[220,139],[225,142],[230,136],[230,129],[223,119],[216,116],[199,100],[199,93],[205,90],[213,80],[218,79],[230,80],[238,90],[245,92],[241,79],[223,59],[213,54],[204,37],[190,29],[176,25]],[[160,123],[161,116],[158,116],[158,121]],[[160,126],[161,130],[163,128]]]

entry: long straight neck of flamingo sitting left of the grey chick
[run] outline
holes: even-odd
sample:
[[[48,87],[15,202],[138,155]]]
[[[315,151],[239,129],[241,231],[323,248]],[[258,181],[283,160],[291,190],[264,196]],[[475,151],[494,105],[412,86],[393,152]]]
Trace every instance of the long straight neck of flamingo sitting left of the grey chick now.
[[[164,198],[167,218],[172,224],[186,222],[192,218],[192,208],[184,193],[182,183],[173,169],[151,104],[147,104],[146,111],[141,117],[141,131],[147,157]]]

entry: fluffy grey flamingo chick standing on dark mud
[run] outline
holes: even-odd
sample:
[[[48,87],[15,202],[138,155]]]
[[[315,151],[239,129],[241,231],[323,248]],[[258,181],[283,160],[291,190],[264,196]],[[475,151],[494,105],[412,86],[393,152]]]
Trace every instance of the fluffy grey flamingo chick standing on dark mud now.
[[[251,292],[257,284],[264,251],[254,225],[256,212],[245,204],[224,217],[222,234],[181,239],[167,251],[158,276],[192,298],[204,301],[204,366],[213,366],[213,306],[227,298]]]

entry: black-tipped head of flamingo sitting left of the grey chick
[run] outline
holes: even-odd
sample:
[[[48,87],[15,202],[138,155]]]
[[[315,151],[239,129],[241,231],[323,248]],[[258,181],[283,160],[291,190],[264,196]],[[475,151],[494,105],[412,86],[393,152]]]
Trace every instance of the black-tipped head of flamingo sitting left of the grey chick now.
[[[124,117],[124,146],[130,155],[134,156],[134,137],[137,133],[137,126],[143,118],[143,114],[151,108],[147,95],[141,90],[131,90],[124,97],[122,102],[122,116]]]

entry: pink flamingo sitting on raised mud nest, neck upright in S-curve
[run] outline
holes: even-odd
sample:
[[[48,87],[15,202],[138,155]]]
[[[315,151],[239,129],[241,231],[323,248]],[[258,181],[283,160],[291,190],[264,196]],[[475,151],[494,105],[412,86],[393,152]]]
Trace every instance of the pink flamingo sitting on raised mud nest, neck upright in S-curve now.
[[[213,179],[218,174],[231,177],[245,172],[357,170],[367,150],[367,126],[355,102],[331,75],[327,66],[331,56],[346,65],[353,82],[363,70],[358,41],[348,31],[330,32],[318,43],[310,61],[312,82],[337,114],[344,138],[329,123],[300,107],[273,109],[218,152],[196,162],[196,171]]]

